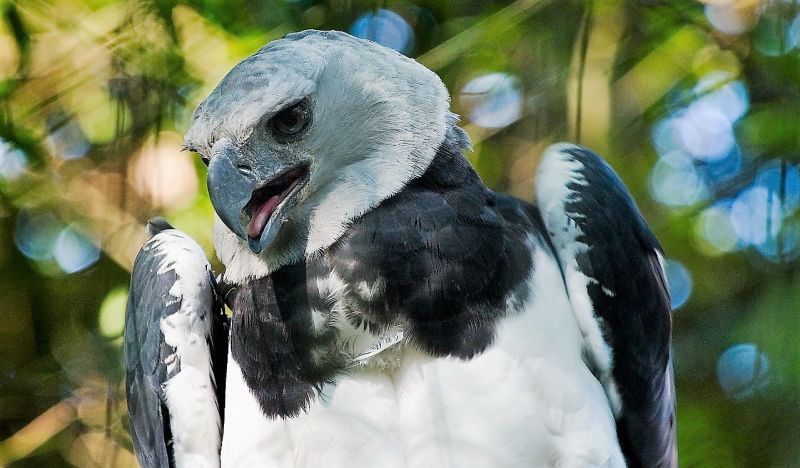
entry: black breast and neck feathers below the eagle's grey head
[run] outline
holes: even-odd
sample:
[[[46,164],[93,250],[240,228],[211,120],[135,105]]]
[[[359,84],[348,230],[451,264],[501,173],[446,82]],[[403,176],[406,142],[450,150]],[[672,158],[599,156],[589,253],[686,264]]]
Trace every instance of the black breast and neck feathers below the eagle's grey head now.
[[[527,295],[535,208],[488,190],[454,127],[401,192],[356,220],[323,255],[242,286],[231,351],[270,416],[297,414],[352,362],[344,328],[399,327],[432,356],[469,359]]]

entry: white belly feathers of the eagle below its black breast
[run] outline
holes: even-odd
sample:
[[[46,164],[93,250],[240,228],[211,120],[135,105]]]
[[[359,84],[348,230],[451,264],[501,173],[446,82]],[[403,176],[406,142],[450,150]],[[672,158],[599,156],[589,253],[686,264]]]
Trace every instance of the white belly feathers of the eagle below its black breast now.
[[[353,368],[307,412],[267,419],[229,359],[222,466],[624,466],[558,265],[534,257],[528,300],[471,360],[406,347],[399,367]]]

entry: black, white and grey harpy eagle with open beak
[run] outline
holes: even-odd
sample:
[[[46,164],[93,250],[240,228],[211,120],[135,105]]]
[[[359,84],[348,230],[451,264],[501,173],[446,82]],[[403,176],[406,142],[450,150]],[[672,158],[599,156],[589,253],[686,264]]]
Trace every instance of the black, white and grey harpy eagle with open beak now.
[[[185,145],[225,271],[160,223],[136,259],[142,466],[676,465],[661,250],[591,151],[495,193],[436,74],[330,31],[239,63]]]

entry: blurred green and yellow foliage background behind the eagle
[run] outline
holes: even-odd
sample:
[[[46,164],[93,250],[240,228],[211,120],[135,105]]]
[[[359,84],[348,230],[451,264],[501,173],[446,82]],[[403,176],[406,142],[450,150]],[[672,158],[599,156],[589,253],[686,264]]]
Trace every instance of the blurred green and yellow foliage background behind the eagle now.
[[[443,78],[487,185],[579,141],[667,260],[683,466],[800,466],[800,2],[0,0],[0,466],[133,466],[121,333],[144,222],[213,255],[191,112],[339,29]],[[218,263],[217,263],[218,265]]]

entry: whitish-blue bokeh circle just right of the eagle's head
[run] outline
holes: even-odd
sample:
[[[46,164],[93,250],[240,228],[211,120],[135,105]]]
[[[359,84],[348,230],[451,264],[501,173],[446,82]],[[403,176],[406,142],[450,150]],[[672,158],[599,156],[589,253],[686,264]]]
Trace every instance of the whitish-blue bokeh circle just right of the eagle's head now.
[[[522,116],[522,87],[507,73],[489,73],[469,81],[459,94],[470,122],[484,128],[503,128]]]

